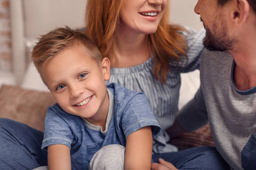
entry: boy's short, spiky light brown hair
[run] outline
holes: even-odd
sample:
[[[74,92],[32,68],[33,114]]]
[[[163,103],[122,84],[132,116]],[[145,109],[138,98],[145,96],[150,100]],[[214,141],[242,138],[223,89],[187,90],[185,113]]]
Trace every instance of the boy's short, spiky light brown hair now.
[[[75,46],[81,47],[100,65],[102,54],[99,48],[82,31],[75,31],[68,26],[65,26],[65,28],[55,28],[49,33],[41,35],[31,52],[32,62],[41,78],[43,78],[43,68],[50,59],[59,52]]]

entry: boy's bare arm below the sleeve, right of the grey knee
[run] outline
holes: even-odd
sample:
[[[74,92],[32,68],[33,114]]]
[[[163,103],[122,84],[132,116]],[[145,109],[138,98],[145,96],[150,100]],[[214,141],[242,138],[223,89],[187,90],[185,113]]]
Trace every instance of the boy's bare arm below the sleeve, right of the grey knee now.
[[[131,133],[126,140],[125,170],[150,170],[153,137],[150,126]]]

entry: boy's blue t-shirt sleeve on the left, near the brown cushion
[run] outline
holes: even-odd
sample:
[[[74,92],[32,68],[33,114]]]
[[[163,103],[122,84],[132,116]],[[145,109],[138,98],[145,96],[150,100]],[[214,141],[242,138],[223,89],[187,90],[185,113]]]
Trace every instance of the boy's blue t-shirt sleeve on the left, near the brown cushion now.
[[[65,112],[61,113],[56,107],[49,107],[44,119],[44,140],[42,149],[52,144],[65,144],[71,148],[73,141],[73,131],[70,122],[65,116]]]

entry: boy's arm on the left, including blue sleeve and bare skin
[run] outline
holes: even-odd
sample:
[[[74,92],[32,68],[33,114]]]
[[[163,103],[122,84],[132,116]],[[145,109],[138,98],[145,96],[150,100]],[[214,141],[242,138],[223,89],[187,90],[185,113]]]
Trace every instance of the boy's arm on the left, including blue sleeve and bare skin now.
[[[49,170],[71,170],[70,148],[74,133],[68,116],[56,104],[47,110],[42,149],[47,149]]]

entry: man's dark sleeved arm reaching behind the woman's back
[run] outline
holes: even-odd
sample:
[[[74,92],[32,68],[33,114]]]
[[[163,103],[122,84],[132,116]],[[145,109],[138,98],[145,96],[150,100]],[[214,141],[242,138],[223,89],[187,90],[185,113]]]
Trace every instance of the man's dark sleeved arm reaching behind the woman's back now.
[[[189,132],[195,131],[208,123],[208,114],[201,88],[188,104],[178,113],[177,121]]]

